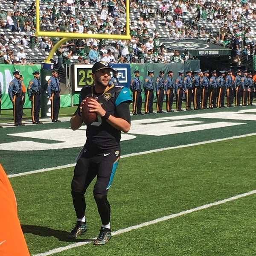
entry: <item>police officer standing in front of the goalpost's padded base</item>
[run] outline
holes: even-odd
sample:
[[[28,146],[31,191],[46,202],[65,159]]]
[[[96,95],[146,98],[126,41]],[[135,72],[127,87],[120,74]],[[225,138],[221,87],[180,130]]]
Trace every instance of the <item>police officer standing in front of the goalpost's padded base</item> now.
[[[51,119],[52,122],[61,122],[58,120],[58,113],[61,104],[61,87],[58,79],[58,69],[52,70],[52,76],[48,80],[47,94],[51,100]]]

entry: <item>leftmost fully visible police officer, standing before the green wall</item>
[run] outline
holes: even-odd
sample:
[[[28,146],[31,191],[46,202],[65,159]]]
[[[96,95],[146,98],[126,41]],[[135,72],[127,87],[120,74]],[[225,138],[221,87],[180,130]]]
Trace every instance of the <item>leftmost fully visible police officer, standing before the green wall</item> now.
[[[9,84],[9,97],[13,104],[13,118],[14,125],[24,125],[21,122],[23,112],[23,96],[22,96],[22,84],[20,81],[20,70],[13,72],[14,79]]]

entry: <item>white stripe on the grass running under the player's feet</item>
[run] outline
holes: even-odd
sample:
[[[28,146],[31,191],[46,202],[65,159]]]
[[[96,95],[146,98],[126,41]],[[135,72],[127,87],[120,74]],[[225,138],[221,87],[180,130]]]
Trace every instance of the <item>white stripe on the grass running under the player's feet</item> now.
[[[146,227],[146,226],[149,226],[151,224],[156,224],[156,223],[159,223],[159,222],[162,222],[162,221],[167,221],[169,219],[176,218],[176,217],[179,217],[179,216],[182,216],[182,215],[185,215],[185,214],[188,214],[188,213],[196,212],[196,211],[199,211],[199,210],[207,209],[207,208],[212,207],[212,206],[216,206],[216,205],[220,205],[220,204],[225,204],[227,202],[230,202],[230,201],[233,201],[233,200],[236,200],[236,199],[248,196],[248,195],[253,195],[253,194],[256,194],[256,190],[252,190],[252,191],[246,192],[244,194],[240,194],[240,195],[236,195],[236,196],[233,196],[233,197],[230,197],[230,198],[226,198],[224,200],[216,201],[216,202],[211,203],[211,204],[204,204],[204,205],[201,205],[199,207],[196,207],[196,208],[193,208],[193,209],[189,209],[189,210],[186,210],[186,211],[182,211],[182,212],[178,212],[178,213],[174,213],[174,214],[171,214],[171,215],[168,215],[168,216],[164,216],[162,218],[157,218],[157,219],[155,219],[153,221],[147,221],[147,222],[144,222],[144,223],[141,223],[141,224],[138,224],[138,225],[134,225],[134,226],[127,227],[127,228],[124,228],[124,229],[116,230],[115,232],[112,232],[112,236],[116,236],[116,235],[120,235],[120,234],[123,234],[123,233],[127,233],[127,232],[129,232],[131,230],[136,230],[136,229],[139,229],[141,227]],[[93,238],[93,239],[96,239],[96,237]],[[58,247],[58,248],[49,250],[48,252],[45,252],[45,253],[35,254],[33,256],[52,255],[54,253],[60,253],[60,252],[62,252],[64,250],[69,250],[69,249],[72,249],[72,248],[75,248],[75,247],[79,247],[79,246],[82,246],[84,244],[89,244],[89,243],[91,243],[91,241],[78,242],[78,243],[75,243],[75,244],[70,244],[70,245],[67,245],[67,246]]]

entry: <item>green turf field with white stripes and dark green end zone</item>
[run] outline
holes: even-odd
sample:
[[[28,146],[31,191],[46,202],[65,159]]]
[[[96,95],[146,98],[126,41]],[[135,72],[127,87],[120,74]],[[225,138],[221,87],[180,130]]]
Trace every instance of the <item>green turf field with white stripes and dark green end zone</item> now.
[[[2,129],[0,156],[8,174],[31,172],[10,176],[31,255],[256,255],[255,124],[255,107],[133,116],[109,191],[113,237],[102,247],[91,242],[100,228],[93,186],[87,191],[87,233],[76,241],[66,239],[76,221],[73,167],[55,166],[74,163],[81,146],[42,149],[71,145],[69,122]],[[64,144],[49,138],[54,130],[67,130],[66,144],[65,138]],[[6,143],[25,148],[24,138],[42,148],[1,149]]]

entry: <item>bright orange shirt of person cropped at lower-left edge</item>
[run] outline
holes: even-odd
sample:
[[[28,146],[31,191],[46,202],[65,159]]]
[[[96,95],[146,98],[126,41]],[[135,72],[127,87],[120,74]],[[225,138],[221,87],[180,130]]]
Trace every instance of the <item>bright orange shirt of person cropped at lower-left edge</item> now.
[[[29,256],[12,185],[0,164],[0,255]]]

